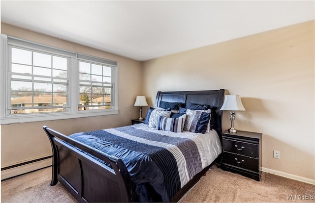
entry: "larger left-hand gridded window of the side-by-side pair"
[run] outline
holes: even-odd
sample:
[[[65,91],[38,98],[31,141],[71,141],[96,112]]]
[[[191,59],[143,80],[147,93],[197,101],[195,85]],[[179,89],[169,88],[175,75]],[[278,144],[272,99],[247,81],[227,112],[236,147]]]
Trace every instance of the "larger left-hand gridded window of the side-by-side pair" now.
[[[69,58],[9,46],[10,114],[67,110]],[[61,103],[59,103],[61,102]],[[17,111],[22,103],[23,110]],[[57,104],[58,103],[58,104]]]

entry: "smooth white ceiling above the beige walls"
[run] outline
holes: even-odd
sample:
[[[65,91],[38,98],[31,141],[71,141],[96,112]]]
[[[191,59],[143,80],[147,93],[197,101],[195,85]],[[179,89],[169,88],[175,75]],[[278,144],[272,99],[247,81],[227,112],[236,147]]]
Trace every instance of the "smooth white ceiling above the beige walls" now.
[[[1,0],[1,22],[139,61],[314,19],[314,0]]]

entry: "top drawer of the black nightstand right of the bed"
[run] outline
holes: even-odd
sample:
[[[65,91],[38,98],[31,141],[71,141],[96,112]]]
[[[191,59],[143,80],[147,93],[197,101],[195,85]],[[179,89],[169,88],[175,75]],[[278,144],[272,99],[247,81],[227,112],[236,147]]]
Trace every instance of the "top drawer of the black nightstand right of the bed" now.
[[[242,154],[258,158],[259,146],[252,143],[241,142],[237,140],[222,139],[223,151]]]

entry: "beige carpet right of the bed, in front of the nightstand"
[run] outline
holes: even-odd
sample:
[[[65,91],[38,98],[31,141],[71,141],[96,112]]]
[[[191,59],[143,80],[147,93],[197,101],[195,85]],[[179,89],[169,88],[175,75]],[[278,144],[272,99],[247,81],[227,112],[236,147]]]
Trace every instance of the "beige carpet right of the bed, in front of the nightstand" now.
[[[295,200],[289,200],[288,195],[294,195]],[[298,195],[312,200],[296,200]],[[264,172],[256,181],[213,166],[180,202],[315,202],[315,185]]]

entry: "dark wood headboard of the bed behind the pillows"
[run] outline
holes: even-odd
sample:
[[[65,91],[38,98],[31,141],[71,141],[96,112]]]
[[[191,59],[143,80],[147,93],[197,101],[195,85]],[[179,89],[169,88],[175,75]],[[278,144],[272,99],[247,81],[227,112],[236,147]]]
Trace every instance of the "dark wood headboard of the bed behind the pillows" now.
[[[168,102],[192,102],[198,104],[208,104],[215,110],[216,129],[219,136],[222,133],[222,111],[220,110],[224,100],[224,89],[202,90],[202,91],[178,91],[178,92],[158,92],[155,106],[159,107],[160,101]]]

